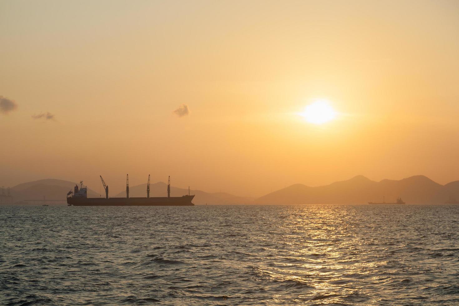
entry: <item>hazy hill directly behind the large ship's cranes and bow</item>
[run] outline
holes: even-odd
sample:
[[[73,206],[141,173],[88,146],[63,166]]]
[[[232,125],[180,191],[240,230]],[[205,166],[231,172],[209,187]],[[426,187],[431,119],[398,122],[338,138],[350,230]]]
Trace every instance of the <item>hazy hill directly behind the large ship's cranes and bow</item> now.
[[[193,203],[196,205],[205,205],[206,203],[211,205],[222,205],[222,204],[250,204],[253,198],[240,197],[236,195],[230,195],[228,193],[217,192],[207,193],[202,190],[190,190],[191,195],[196,195],[193,199]],[[164,182],[158,182],[150,185],[150,196],[167,196],[168,185]],[[171,186],[171,196],[182,196],[188,195],[188,189],[177,188]],[[113,197],[125,197],[126,191],[120,192],[118,195]],[[129,196],[132,197],[145,197],[146,196],[146,184],[137,186],[129,186]]]

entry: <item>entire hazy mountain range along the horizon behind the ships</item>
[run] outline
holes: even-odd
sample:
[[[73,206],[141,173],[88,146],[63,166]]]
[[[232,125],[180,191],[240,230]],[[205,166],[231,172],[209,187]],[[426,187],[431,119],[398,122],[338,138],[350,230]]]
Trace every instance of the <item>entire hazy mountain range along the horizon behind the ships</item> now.
[[[22,200],[62,200],[65,202],[67,192],[73,190],[76,183],[59,179],[41,179],[19,184],[11,188],[14,201]],[[188,189],[171,186],[171,196],[188,194]],[[274,191],[259,198],[241,197],[224,192],[208,193],[202,190],[190,190],[196,195],[193,203],[204,204],[365,204],[369,201],[395,201],[397,197],[407,204],[443,204],[449,199],[459,199],[459,181],[446,185],[438,184],[423,175],[412,176],[401,180],[383,179],[376,182],[362,175],[335,182],[325,186],[309,187],[294,184]],[[131,186],[131,197],[146,196],[146,184]],[[167,184],[158,182],[150,186],[151,196],[166,196]],[[88,189],[89,197],[100,197],[94,190]],[[103,196],[103,195],[102,195]],[[113,197],[124,197],[120,192]]]

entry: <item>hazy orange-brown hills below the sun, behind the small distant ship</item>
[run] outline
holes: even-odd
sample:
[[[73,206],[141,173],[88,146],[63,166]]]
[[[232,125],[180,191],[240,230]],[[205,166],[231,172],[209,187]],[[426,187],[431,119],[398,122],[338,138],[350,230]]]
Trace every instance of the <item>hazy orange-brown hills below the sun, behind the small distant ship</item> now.
[[[459,200],[459,181],[438,184],[423,175],[401,180],[372,181],[356,176],[346,181],[319,187],[295,184],[253,201],[254,204],[365,204],[369,201],[395,201],[408,204],[443,204],[450,197]]]

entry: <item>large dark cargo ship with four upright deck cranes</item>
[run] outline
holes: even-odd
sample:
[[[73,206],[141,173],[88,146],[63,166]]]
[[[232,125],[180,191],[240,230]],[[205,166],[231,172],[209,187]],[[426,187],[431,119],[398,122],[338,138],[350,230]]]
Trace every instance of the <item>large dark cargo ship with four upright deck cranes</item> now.
[[[80,181],[80,187],[75,185],[73,191],[67,193],[67,206],[194,206],[191,200],[195,197],[190,195],[170,196],[171,180],[168,178],[168,196],[167,197],[150,197],[150,175],[146,186],[146,198],[129,197],[129,175],[126,176],[126,197],[110,198],[108,196],[108,186],[101,176],[102,184],[105,189],[105,198],[88,198],[88,188],[83,187],[83,181]]]

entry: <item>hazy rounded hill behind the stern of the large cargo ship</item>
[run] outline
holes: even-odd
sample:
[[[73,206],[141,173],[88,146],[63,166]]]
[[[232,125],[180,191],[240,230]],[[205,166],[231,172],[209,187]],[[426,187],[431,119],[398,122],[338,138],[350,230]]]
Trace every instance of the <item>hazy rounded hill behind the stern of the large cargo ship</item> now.
[[[66,200],[67,192],[73,190],[74,182],[61,179],[40,179],[38,181],[27,182],[11,188],[11,195],[14,202],[22,200]],[[79,184],[78,184],[79,186]],[[95,191],[88,189],[88,196],[99,197]]]

